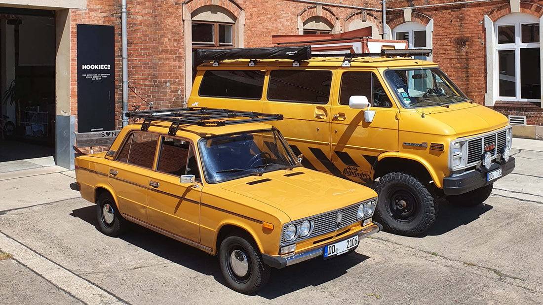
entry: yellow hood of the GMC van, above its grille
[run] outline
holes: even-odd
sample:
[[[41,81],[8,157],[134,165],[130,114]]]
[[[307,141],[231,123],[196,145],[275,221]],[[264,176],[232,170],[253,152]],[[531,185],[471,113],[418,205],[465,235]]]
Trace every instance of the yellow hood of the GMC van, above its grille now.
[[[493,131],[507,125],[507,118],[503,114],[476,103],[460,103],[449,108],[435,107],[425,110],[425,113],[425,119],[431,118],[449,125],[456,131],[458,138]]]

